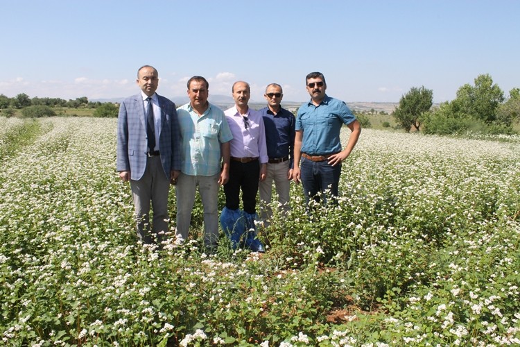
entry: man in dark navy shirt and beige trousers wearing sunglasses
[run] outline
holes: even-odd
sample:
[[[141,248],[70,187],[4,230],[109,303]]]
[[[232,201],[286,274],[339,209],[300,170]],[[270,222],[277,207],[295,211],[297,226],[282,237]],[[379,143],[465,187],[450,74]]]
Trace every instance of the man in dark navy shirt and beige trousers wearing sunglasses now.
[[[267,226],[272,215],[270,206],[272,196],[272,183],[275,183],[278,194],[278,202],[281,210],[288,212],[289,189],[293,179],[293,153],[295,138],[295,117],[293,113],[281,107],[281,99],[284,94],[281,85],[271,83],[266,87],[268,106],[262,108],[263,124],[266,128],[267,177],[260,183],[261,218]]]

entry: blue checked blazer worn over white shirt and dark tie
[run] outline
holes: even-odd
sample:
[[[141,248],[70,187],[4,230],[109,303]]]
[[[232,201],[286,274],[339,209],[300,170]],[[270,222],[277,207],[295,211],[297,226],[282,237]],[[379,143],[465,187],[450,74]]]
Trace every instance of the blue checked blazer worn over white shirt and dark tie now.
[[[180,130],[175,103],[157,95],[161,108],[159,152],[164,174],[170,179],[172,170],[180,170]],[[117,171],[130,171],[139,180],[146,168],[146,116],[141,93],[121,102],[117,119]]]

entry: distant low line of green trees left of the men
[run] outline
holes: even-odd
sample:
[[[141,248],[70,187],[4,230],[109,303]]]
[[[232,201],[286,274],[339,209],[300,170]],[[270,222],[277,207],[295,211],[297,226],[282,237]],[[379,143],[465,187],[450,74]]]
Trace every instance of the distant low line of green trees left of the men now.
[[[15,110],[21,110],[22,117],[53,117],[53,108],[90,108],[94,109],[94,117],[117,117],[119,106],[114,103],[89,101],[87,96],[64,100],[60,98],[31,98],[25,93],[9,98],[0,94],[0,110],[6,117],[15,115]]]

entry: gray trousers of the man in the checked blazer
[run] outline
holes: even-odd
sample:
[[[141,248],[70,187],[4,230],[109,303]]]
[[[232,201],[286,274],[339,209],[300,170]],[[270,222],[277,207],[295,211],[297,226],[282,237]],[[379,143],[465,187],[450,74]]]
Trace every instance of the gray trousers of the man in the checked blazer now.
[[[140,180],[130,180],[135,206],[137,237],[144,244],[159,243],[164,240],[163,232],[168,232],[168,192],[170,178],[164,174],[159,155],[146,158],[146,169]],[[153,223],[150,232],[150,202],[153,209]]]

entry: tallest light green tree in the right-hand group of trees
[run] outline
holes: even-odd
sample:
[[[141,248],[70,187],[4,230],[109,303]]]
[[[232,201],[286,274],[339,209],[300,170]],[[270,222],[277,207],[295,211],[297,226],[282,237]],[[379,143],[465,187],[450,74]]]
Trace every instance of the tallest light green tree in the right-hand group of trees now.
[[[504,101],[503,94],[500,87],[493,84],[489,74],[479,75],[475,78],[474,86],[465,84],[459,88],[453,107],[458,112],[490,125],[496,121],[496,112]]]

